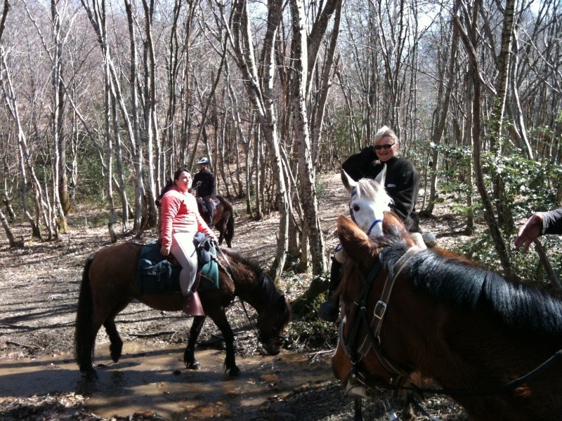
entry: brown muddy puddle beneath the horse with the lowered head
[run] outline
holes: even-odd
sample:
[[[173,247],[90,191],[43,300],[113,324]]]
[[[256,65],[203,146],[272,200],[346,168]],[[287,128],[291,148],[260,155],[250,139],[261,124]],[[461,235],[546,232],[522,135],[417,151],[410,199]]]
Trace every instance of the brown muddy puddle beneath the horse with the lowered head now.
[[[200,370],[183,365],[183,347],[150,349],[124,345],[119,363],[112,363],[107,345],[96,349],[99,380],[81,379],[72,355],[0,362],[0,403],[8,396],[84,394],[92,413],[109,418],[155,413],[166,420],[209,418],[260,419],[259,413],[295,390],[333,381],[326,354],[237,356],[239,377],[223,371],[224,353],[197,351]]]

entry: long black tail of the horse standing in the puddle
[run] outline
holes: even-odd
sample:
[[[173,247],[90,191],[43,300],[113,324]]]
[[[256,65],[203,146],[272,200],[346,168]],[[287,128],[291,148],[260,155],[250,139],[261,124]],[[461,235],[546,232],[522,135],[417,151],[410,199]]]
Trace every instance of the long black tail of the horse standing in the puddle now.
[[[85,360],[93,357],[93,347],[91,343],[91,326],[93,314],[93,297],[90,286],[90,267],[94,256],[86,260],[84,272],[82,272],[82,283],[80,285],[80,295],[78,297],[78,309],[76,313],[76,326],[74,330],[74,358],[79,366]]]

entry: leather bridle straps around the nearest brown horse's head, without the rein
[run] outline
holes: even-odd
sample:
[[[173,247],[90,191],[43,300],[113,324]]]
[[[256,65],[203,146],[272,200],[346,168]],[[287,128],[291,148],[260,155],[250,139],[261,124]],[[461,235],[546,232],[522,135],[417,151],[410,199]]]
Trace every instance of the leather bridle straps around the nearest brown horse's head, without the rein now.
[[[374,285],[374,279],[377,278],[379,272],[383,268],[383,263],[380,258],[377,263],[372,267],[369,274],[362,279],[362,291],[361,294],[355,302],[353,302],[353,312],[351,313],[351,330],[347,337],[344,335],[344,328],[346,326],[346,319],[342,321],[338,329],[339,342],[341,343],[344,352],[348,356],[349,361],[351,361],[351,370],[348,373],[349,377],[359,383],[362,387],[367,387],[371,389],[378,389],[379,387],[384,387],[388,389],[390,385],[391,388],[400,387],[403,384],[405,378],[412,373],[410,368],[404,367],[396,361],[392,361],[384,352],[382,348],[381,341],[381,328],[384,321],[384,315],[388,307],[388,300],[391,298],[392,290],[396,279],[402,272],[402,269],[406,266],[407,261],[412,258],[416,253],[419,253],[420,249],[417,247],[409,248],[398,262],[396,262],[395,269],[396,274],[394,276],[386,276],[384,281],[384,286],[382,289],[381,297],[374,305],[374,311],[372,319],[367,313],[367,302],[369,300],[370,291]],[[359,344],[359,331],[362,326],[365,326],[367,335],[365,339]],[[388,370],[389,373],[393,375],[388,384],[386,380],[382,379],[381,376],[377,378],[372,378],[372,375],[365,374],[361,370],[361,361],[365,355],[370,350],[373,350],[374,354],[379,359],[381,365]],[[381,384],[383,383],[383,384]],[[358,385],[358,386],[359,386]]]

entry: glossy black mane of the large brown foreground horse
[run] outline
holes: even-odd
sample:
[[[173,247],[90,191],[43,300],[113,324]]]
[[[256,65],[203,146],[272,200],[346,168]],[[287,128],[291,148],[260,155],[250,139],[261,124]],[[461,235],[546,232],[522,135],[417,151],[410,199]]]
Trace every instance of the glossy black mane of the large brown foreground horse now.
[[[380,258],[389,276],[407,250],[404,241],[386,236]],[[412,279],[414,292],[427,291],[459,309],[483,307],[519,333],[562,335],[562,302],[556,295],[497,274],[458,257],[424,250],[412,256],[403,273]]]

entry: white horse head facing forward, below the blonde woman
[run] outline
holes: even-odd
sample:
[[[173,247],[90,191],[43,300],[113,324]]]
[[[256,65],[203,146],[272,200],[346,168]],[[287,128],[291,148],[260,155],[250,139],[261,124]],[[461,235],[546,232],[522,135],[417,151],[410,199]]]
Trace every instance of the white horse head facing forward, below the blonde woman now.
[[[369,236],[382,235],[382,220],[384,212],[389,211],[389,203],[392,199],[384,189],[386,178],[386,166],[374,180],[362,178],[354,181],[349,175],[341,170],[341,181],[351,194],[349,200],[349,212],[351,219]]]

